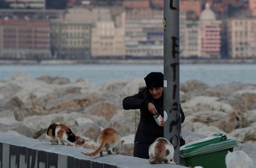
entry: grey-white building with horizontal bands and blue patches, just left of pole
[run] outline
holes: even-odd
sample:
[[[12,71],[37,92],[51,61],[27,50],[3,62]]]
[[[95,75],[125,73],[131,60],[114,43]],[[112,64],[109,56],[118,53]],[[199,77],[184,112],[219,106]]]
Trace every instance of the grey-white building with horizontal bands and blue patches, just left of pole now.
[[[126,11],[126,56],[163,57],[163,10]]]

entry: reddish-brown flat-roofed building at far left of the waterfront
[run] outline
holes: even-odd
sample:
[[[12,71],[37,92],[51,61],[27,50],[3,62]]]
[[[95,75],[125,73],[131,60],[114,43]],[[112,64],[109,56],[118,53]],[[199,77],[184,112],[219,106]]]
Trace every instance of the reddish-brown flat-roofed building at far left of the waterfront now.
[[[49,21],[0,19],[0,58],[51,58]]]

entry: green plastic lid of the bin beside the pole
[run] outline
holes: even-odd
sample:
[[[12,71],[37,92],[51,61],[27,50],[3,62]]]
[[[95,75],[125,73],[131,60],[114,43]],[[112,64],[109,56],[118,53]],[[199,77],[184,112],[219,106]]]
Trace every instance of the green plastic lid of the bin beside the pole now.
[[[205,153],[216,152],[239,146],[235,137],[227,137],[222,133],[213,134],[211,137],[190,142],[180,147],[180,156],[182,158]]]

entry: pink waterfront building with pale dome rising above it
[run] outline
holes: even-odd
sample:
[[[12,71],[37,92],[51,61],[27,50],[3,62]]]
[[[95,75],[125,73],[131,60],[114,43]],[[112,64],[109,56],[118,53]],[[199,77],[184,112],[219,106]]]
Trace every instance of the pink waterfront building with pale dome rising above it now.
[[[202,57],[220,58],[221,21],[216,20],[209,3],[205,3],[205,9],[200,15],[200,32]]]

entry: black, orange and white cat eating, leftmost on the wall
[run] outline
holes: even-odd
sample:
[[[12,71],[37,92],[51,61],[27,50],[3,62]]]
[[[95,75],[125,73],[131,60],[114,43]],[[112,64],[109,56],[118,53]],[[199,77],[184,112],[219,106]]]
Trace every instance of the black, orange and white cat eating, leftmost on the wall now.
[[[76,136],[70,128],[61,123],[51,124],[46,131],[46,139],[49,144],[58,142],[58,144],[72,144],[77,142],[79,136]]]

